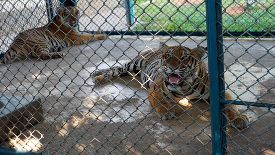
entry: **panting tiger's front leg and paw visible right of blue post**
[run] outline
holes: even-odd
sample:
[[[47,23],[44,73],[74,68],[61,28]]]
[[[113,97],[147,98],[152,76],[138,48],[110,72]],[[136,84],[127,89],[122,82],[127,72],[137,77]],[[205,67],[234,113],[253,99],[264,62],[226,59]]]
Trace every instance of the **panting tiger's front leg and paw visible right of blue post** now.
[[[234,100],[228,92],[225,92],[225,99]],[[240,114],[236,105],[229,105],[229,107],[226,109],[226,116],[230,120],[231,127],[235,126],[236,128],[244,129],[248,127],[250,123],[250,120],[246,115]]]

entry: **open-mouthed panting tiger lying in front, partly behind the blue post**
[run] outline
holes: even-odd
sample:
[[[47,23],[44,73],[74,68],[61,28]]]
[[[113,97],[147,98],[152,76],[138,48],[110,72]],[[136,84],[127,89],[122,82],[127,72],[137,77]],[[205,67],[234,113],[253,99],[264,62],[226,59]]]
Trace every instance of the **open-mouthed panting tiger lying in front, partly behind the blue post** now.
[[[127,74],[132,71],[139,73],[142,83],[149,88],[151,106],[163,120],[172,119],[175,110],[171,103],[177,103],[183,97],[189,100],[201,97],[209,100],[208,72],[201,61],[206,50],[204,47],[194,49],[184,46],[169,47],[161,43],[160,48],[142,53],[123,67],[95,71],[92,75],[93,82],[105,83],[121,73]],[[228,92],[225,92],[225,98],[233,100]],[[249,118],[239,114],[236,105],[230,107],[226,109],[230,125],[240,129],[248,127]]]

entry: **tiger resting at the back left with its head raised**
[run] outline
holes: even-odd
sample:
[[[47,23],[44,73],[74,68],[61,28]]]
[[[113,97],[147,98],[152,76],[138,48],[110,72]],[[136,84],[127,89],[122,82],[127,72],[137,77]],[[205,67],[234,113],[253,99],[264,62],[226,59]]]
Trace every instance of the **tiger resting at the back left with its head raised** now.
[[[45,26],[20,32],[8,50],[1,53],[1,63],[13,58],[55,58],[63,57],[63,47],[80,45],[92,40],[105,39],[105,34],[97,31],[93,34],[79,32],[78,19],[80,11],[74,6],[57,7],[57,14]]]

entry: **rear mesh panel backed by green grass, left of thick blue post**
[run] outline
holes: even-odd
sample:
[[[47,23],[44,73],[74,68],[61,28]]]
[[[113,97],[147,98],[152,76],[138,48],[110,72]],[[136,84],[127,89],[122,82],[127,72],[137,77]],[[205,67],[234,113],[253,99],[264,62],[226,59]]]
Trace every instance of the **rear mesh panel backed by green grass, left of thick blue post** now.
[[[134,1],[134,30],[206,30],[204,0]]]

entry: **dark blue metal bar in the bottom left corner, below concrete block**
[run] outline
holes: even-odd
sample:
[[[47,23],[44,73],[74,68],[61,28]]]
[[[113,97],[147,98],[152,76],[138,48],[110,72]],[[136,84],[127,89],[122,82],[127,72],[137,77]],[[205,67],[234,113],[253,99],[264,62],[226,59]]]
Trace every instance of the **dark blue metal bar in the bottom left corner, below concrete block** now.
[[[48,155],[35,152],[28,152],[25,150],[18,150],[14,148],[0,147],[0,155]]]

